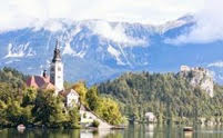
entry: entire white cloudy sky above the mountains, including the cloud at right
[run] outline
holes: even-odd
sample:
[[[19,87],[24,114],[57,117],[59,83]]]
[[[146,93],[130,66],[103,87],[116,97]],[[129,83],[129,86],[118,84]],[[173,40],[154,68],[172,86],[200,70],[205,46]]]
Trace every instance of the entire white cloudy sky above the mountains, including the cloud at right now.
[[[223,40],[223,0],[0,0],[0,31],[49,19],[103,19],[162,24],[194,14],[197,26],[171,43]]]

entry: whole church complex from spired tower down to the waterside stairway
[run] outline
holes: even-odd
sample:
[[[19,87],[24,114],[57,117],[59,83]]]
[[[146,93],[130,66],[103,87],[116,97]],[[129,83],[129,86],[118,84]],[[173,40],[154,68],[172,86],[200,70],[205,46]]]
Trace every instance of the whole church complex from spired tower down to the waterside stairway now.
[[[65,107],[73,107],[74,105],[80,106],[80,122],[84,126],[89,126],[93,120],[100,122],[99,128],[112,128],[111,125],[101,119],[93,111],[84,107],[80,102],[79,93],[73,89],[65,90],[63,87],[63,62],[59,49],[59,43],[57,41],[52,61],[50,63],[50,76],[48,76],[47,70],[43,71],[42,76],[31,76],[27,80],[27,86],[36,89],[50,89],[54,91],[54,96],[61,95],[65,98]]]

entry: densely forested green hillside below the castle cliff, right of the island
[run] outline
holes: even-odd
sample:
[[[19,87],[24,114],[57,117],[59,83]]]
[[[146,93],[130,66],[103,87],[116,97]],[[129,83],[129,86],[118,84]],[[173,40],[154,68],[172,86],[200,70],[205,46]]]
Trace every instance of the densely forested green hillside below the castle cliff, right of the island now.
[[[211,98],[181,73],[129,72],[100,83],[99,91],[120,101],[129,118],[143,119],[148,111],[160,119],[223,116],[223,88],[215,85]]]

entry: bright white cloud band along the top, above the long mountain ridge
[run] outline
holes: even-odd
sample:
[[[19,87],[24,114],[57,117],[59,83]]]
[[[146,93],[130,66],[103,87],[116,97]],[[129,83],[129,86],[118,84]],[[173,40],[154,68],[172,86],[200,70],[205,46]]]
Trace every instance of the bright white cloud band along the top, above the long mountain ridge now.
[[[202,8],[204,0],[0,0],[0,30],[31,26],[37,19],[104,19],[162,23]]]

